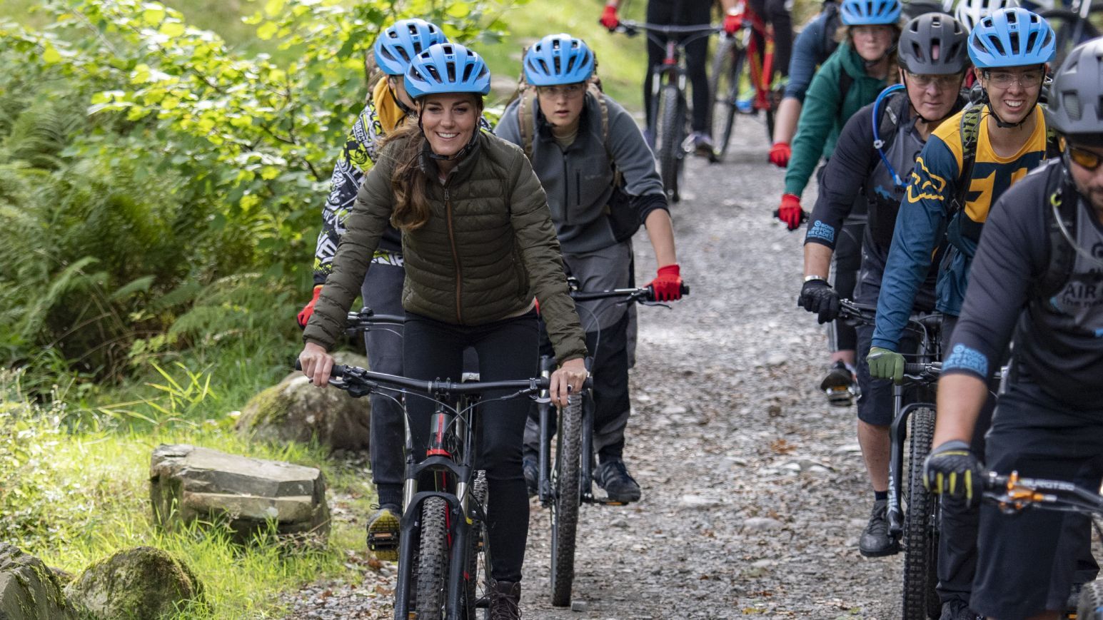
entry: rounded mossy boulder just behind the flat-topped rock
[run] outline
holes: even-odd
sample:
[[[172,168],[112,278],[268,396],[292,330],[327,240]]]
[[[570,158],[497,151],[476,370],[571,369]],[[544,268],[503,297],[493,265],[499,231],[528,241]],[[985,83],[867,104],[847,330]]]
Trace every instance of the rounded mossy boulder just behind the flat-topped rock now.
[[[367,366],[367,359],[346,352],[334,355],[339,364]],[[372,406],[341,389],[320,389],[301,372],[254,396],[242,409],[236,429],[255,439],[282,443],[312,439],[331,452],[361,451],[371,447]]]

